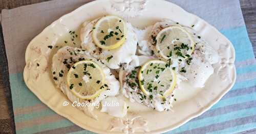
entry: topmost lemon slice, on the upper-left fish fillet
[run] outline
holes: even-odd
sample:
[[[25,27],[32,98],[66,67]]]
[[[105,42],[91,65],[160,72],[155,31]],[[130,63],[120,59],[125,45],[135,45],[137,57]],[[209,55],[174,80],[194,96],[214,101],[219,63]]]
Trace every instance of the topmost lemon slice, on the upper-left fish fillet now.
[[[124,43],[125,38],[125,22],[117,16],[102,17],[93,28],[93,40],[102,49],[118,48]]]

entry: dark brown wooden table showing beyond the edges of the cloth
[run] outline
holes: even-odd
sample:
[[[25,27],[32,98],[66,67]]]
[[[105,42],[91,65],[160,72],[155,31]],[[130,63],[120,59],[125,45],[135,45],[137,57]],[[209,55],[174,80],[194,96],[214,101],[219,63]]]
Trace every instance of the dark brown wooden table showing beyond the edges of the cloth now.
[[[19,6],[40,3],[45,1],[49,1],[49,0],[0,0],[0,11],[2,9],[12,9]],[[245,19],[245,23],[246,23],[246,28],[247,28],[249,38],[253,46],[254,55],[255,55],[256,54],[256,0],[240,0],[240,3],[241,3],[241,8],[242,8],[243,16]],[[0,133],[15,133],[13,112],[12,112],[12,108],[10,108],[11,98],[6,97],[6,96],[9,96],[6,90],[8,89],[3,84],[3,77],[2,77],[2,74],[0,74]]]

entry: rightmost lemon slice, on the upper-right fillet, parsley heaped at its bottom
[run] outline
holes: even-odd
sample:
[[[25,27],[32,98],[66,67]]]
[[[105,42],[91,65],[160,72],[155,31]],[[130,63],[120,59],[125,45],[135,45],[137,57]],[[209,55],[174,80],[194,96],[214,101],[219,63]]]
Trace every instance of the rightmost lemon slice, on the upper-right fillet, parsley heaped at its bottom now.
[[[156,37],[156,50],[165,60],[183,60],[191,56],[195,49],[195,41],[181,26],[168,26]]]

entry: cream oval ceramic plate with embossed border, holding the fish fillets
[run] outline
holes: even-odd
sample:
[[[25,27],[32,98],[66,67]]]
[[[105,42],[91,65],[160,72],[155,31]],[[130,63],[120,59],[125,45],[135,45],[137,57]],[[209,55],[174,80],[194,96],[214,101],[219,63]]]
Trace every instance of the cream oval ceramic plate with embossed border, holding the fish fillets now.
[[[71,105],[62,106],[64,101],[69,100],[54,85],[51,59],[57,51],[55,46],[63,44],[69,31],[79,31],[84,21],[107,14],[122,15],[138,28],[144,28],[163,18],[177,21],[185,26],[195,25],[193,29],[218,51],[221,63],[214,65],[214,74],[206,82],[205,88],[195,90],[195,92],[182,91],[187,93],[187,97],[177,98],[178,101],[173,108],[174,112],[152,110],[129,112],[127,117],[120,119],[96,110],[99,119],[94,120]],[[52,45],[53,49],[49,49],[48,45]],[[160,133],[175,129],[201,115],[228,92],[236,80],[234,58],[234,48],[226,37],[201,18],[184,11],[177,5],[154,0],[131,4],[99,0],[62,16],[30,42],[26,50],[24,79],[28,88],[42,102],[57,114],[68,118],[84,129],[98,133],[143,133],[144,131]],[[40,66],[37,66],[37,63],[40,63]]]

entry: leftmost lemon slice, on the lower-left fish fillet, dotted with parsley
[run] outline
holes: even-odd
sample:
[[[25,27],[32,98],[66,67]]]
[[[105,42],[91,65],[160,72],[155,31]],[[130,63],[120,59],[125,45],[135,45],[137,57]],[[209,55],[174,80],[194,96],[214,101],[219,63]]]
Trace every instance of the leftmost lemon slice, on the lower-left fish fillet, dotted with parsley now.
[[[87,60],[79,61],[70,68],[67,83],[71,92],[81,99],[95,98],[106,89],[101,67]]]

